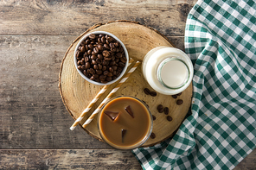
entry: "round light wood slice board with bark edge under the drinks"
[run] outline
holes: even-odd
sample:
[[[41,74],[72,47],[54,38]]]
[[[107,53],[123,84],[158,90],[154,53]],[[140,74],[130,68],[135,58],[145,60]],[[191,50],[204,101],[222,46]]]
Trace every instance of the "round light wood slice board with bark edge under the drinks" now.
[[[68,112],[74,117],[74,119],[80,116],[80,113],[85,110],[86,106],[91,100],[93,100],[96,94],[103,87],[100,85],[90,84],[85,79],[82,79],[74,66],[74,48],[80,41],[80,38],[88,32],[98,30],[107,31],[113,35],[116,35],[120,41],[124,42],[125,47],[128,50],[128,54],[133,60],[142,61],[144,59],[144,55],[154,47],[173,47],[171,42],[156,30],[145,27],[137,22],[107,22],[106,24],[94,25],[92,28],[86,30],[86,32],[80,35],[67,49],[67,53],[65,54],[65,57],[61,63],[59,82],[61,98]],[[112,90],[112,88],[117,85],[117,83],[108,86],[105,94],[99,98],[96,104],[94,104],[91,111],[85,116],[84,120],[81,121],[81,124],[86,121],[86,118],[91,115],[93,110],[97,108],[97,106]],[[146,104],[149,105],[152,115],[156,116],[157,119],[153,122],[152,131],[155,133],[156,138],[150,138],[143,145],[144,147],[148,147],[155,145],[158,142],[163,142],[165,139],[169,138],[180,126],[184,117],[189,111],[192,97],[192,84],[189,85],[189,87],[182,92],[182,95],[178,96],[176,99],[159,93],[157,93],[157,97],[150,97],[149,95],[144,94],[143,90],[145,87],[152,91],[150,85],[148,85],[143,77],[141,66],[138,66],[138,69],[131,74],[129,79],[127,79],[125,84],[119,88],[114,97],[119,95],[134,96],[144,100]],[[179,98],[183,100],[182,105],[176,104],[176,100]],[[172,116],[173,118],[171,122],[167,121],[166,115],[157,112],[158,104],[163,104],[164,107],[167,106],[170,108],[169,116]],[[99,139],[99,141],[102,141],[98,131],[97,119],[98,118],[95,117],[93,122],[86,127],[85,131],[89,135]],[[70,126],[71,125],[72,124],[70,124]]]

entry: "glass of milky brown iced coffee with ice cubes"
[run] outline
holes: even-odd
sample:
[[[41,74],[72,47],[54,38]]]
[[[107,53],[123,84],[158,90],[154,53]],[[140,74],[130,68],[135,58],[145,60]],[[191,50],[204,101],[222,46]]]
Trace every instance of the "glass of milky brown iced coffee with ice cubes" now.
[[[138,148],[146,142],[153,127],[149,108],[138,98],[119,96],[99,112],[99,134],[114,148]]]

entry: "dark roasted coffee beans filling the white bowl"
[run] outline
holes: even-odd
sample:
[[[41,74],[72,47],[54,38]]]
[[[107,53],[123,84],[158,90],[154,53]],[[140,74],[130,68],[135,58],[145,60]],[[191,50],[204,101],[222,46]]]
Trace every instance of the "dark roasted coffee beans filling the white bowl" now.
[[[80,72],[106,84],[117,79],[126,64],[124,48],[110,35],[88,35],[75,54]]]

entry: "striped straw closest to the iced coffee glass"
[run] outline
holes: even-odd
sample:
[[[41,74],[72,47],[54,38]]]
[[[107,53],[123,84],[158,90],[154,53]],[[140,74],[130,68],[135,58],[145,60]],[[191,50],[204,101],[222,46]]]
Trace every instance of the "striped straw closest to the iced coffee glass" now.
[[[83,128],[86,128],[86,126],[91,123],[93,121],[94,116],[96,116],[99,113],[99,110],[103,107],[104,104],[106,104],[106,102],[112,98],[112,95],[118,91],[118,89],[120,88],[121,85],[123,85],[123,83],[125,83],[126,79],[129,78],[129,76],[131,75],[132,72],[134,72],[136,70],[136,68],[138,67],[138,65],[140,64],[139,61],[137,61],[135,63],[134,66],[131,67],[130,71],[127,72],[127,74],[125,75],[125,77],[123,79],[121,79],[121,81],[118,83],[118,85],[107,95],[107,97],[103,100],[103,102],[101,102],[101,104],[99,104],[98,108],[96,110],[93,111],[93,114],[86,120],[86,122],[83,124]]]

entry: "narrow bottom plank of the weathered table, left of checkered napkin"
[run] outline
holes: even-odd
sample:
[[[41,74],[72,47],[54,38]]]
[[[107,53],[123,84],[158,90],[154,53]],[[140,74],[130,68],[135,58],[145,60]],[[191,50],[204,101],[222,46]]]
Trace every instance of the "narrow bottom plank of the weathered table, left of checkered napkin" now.
[[[131,151],[114,149],[8,149],[0,160],[0,169],[142,169]]]

